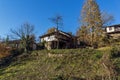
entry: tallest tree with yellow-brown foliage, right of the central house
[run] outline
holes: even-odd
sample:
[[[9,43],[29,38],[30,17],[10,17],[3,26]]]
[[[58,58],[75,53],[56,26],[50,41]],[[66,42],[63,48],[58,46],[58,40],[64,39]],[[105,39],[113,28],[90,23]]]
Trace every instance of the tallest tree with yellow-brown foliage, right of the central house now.
[[[96,0],[86,0],[81,12],[82,26],[86,26],[90,36],[90,45],[95,46],[101,40],[102,19]]]

